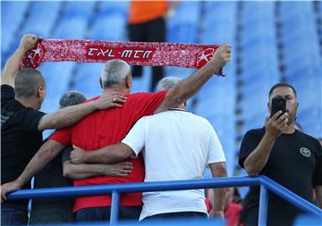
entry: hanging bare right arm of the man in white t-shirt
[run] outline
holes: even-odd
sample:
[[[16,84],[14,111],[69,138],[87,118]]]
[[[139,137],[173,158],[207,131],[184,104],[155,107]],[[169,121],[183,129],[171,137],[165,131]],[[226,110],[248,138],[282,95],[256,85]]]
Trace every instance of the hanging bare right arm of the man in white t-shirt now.
[[[227,177],[225,162],[210,163],[209,168],[213,178]],[[214,189],[214,203],[210,217],[224,217],[225,208],[225,188]]]

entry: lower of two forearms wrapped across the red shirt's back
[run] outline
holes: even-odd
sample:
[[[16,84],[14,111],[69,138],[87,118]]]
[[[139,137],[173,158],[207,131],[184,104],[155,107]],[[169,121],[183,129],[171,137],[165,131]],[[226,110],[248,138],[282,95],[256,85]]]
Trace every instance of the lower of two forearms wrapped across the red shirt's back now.
[[[87,179],[96,176],[127,176],[133,169],[132,163],[122,162],[116,164],[80,163],[74,164],[66,161],[63,165],[64,177],[73,180]]]

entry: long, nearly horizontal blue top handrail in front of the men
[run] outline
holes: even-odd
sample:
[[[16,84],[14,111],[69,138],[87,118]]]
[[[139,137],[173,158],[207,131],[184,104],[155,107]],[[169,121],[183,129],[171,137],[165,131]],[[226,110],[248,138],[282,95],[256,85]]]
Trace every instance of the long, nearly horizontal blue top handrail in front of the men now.
[[[21,189],[8,195],[9,199],[29,199],[38,197],[83,197],[119,193],[135,193],[161,190],[185,190],[195,188],[226,188],[254,186],[260,183],[259,177],[231,177],[201,180],[171,180],[144,183],[91,185],[61,188]]]

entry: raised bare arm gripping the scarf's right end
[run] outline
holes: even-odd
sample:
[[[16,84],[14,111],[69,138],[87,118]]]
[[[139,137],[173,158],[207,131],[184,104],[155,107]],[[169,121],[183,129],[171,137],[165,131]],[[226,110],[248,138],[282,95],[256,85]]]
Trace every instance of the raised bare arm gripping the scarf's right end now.
[[[207,64],[169,89],[164,101],[157,108],[156,113],[166,111],[171,107],[176,107],[196,94],[216,71],[220,71],[230,61],[231,50],[232,46],[230,45],[219,46]]]

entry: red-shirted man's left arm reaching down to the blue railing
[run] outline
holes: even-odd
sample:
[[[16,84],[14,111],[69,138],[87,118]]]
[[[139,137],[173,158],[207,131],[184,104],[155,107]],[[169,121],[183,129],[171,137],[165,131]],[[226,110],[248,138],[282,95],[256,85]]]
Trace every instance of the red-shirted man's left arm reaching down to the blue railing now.
[[[41,171],[47,163],[54,159],[63,148],[64,145],[49,139],[40,147],[17,180],[13,180],[12,182],[5,183],[1,186],[1,198],[5,200],[7,193],[22,188],[22,186]]]

